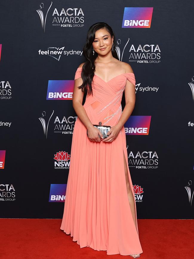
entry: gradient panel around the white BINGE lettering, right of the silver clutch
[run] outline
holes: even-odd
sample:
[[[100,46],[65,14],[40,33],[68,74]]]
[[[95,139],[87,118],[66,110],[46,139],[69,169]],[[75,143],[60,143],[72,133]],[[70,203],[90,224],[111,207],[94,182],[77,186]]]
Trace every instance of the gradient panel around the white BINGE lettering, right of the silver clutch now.
[[[130,116],[129,119],[125,122],[125,128],[147,128],[147,133],[139,133],[139,132],[132,132],[126,133],[126,135],[148,135],[150,129],[150,121],[151,116]]]

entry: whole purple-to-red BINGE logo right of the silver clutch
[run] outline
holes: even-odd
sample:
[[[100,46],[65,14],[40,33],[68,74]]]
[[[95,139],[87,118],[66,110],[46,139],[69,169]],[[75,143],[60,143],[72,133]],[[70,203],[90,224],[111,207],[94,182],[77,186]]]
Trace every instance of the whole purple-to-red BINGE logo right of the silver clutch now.
[[[124,124],[126,135],[148,135],[151,116],[130,116]]]

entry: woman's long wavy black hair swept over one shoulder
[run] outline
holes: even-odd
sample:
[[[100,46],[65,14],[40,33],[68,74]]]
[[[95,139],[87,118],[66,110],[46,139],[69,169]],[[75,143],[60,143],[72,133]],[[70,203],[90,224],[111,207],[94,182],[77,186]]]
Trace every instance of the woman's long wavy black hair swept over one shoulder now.
[[[88,91],[88,94],[92,94],[92,95],[93,95],[92,81],[93,81],[94,72],[95,72],[94,61],[98,56],[96,51],[94,51],[94,55],[93,55],[92,43],[94,42],[96,31],[104,28],[110,33],[111,37],[114,36],[112,55],[114,58],[118,59],[118,55],[115,49],[115,34],[112,28],[105,22],[97,22],[93,24],[87,32],[86,43],[83,48],[83,55],[86,58],[86,62],[84,63],[81,71],[81,78],[83,80],[83,84],[78,87],[82,89],[81,90],[82,92],[86,93]]]

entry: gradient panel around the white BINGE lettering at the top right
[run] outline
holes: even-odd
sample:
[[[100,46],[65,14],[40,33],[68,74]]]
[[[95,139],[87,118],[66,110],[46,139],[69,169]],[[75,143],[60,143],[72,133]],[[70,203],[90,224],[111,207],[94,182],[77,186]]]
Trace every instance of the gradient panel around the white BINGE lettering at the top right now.
[[[125,7],[123,14],[122,28],[150,28],[152,20],[153,7]],[[125,20],[149,20],[148,26],[141,25],[126,25],[124,26]]]

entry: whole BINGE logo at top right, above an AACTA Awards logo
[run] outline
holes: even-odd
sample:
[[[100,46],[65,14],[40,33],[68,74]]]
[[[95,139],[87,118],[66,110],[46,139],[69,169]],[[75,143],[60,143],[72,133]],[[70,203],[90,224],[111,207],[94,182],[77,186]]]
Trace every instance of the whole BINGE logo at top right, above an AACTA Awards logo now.
[[[122,28],[150,28],[153,7],[125,7]]]

